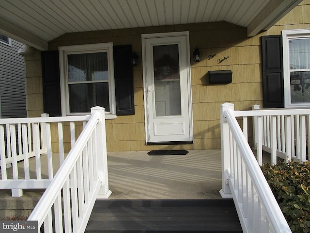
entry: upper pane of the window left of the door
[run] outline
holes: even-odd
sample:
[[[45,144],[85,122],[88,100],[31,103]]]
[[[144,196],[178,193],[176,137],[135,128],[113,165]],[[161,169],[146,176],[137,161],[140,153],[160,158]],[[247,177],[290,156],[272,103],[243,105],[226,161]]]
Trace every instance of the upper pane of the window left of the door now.
[[[107,52],[69,54],[69,82],[109,80]]]

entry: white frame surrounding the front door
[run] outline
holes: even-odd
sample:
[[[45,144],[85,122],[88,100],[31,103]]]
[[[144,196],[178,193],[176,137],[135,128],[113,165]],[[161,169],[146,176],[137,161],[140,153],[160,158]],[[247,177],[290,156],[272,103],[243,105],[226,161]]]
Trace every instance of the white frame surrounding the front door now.
[[[143,95],[144,95],[144,120],[145,120],[145,140],[146,144],[149,143],[149,124],[148,124],[148,104],[147,104],[147,81],[146,81],[146,49],[145,40],[148,38],[163,38],[163,37],[173,37],[173,36],[186,36],[186,63],[187,63],[187,98],[188,98],[188,115],[189,115],[189,143],[193,143],[194,133],[193,133],[193,111],[192,111],[192,92],[191,92],[191,73],[190,73],[190,50],[189,50],[189,32],[173,32],[173,33],[151,33],[141,35],[142,44],[142,69],[143,69]],[[187,142],[188,143],[188,142]],[[156,144],[156,143],[152,143]],[[164,143],[159,143],[164,144]],[[174,143],[167,143],[174,144]],[[177,142],[177,144],[183,144],[182,142]],[[185,144],[185,143],[184,143]]]

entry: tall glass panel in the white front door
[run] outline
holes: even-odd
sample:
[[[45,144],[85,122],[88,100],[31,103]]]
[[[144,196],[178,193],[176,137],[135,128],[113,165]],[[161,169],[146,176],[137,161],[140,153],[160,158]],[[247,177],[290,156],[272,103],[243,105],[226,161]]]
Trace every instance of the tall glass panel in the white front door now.
[[[181,115],[179,45],[153,46],[155,115]]]

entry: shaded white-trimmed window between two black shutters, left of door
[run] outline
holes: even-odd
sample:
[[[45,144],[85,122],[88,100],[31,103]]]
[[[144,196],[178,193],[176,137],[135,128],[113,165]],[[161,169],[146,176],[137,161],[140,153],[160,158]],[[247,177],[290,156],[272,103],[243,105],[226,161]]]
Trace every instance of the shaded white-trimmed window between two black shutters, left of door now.
[[[94,106],[115,115],[112,43],[64,46],[59,52],[62,116],[87,114]]]

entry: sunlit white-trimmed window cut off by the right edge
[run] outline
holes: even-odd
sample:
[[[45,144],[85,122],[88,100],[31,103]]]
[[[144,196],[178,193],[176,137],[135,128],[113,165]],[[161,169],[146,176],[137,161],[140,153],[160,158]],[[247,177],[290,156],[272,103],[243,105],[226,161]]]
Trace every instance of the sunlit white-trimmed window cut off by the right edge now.
[[[284,105],[310,106],[310,30],[283,31]]]

